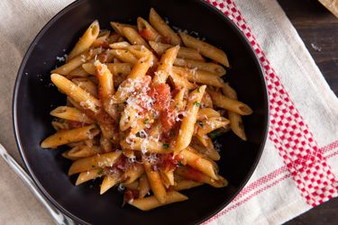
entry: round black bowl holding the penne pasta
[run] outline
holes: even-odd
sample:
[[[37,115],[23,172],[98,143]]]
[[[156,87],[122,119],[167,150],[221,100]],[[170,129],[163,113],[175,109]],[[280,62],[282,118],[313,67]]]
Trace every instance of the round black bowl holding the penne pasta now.
[[[117,190],[100,196],[98,182],[75,186],[76,177],[67,175],[70,162],[60,157],[59,149],[41,149],[40,142],[53,133],[50,110],[66,99],[50,85],[56,57],[69,52],[95,19],[104,28],[109,28],[110,21],[135,23],[137,16],[148,18],[151,7],[168,17],[171,25],[197,31],[224,49],[232,65],[225,79],[254,113],[243,118],[248,141],[232,132],[219,139],[223,144],[220,174],[228,179],[229,186],[197,187],[184,192],[189,197],[186,202],[144,212],[129,205],[122,207],[123,195]],[[251,44],[224,14],[205,1],[79,0],[52,18],[32,41],[16,79],[13,113],[17,145],[32,179],[71,219],[84,224],[190,224],[215,215],[246,184],[264,147],[269,109],[263,72]]]

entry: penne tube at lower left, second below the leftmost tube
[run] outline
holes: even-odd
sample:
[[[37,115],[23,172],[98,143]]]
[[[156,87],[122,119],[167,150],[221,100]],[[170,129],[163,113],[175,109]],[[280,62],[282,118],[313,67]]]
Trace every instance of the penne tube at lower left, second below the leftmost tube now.
[[[121,154],[122,151],[114,151],[102,155],[97,154],[93,157],[80,158],[70,166],[69,175],[75,175],[97,167],[104,168],[105,166],[113,166]]]

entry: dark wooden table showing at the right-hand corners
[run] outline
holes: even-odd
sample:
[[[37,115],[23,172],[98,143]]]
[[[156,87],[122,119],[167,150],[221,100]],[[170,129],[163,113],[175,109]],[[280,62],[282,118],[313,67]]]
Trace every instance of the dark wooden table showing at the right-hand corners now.
[[[278,1],[327,83],[338,95],[338,19],[316,0]],[[338,198],[325,202],[286,224],[338,224]]]

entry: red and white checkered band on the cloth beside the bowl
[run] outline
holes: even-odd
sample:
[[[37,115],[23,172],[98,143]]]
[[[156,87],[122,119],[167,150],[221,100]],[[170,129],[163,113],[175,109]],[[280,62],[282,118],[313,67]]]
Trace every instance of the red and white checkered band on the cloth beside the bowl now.
[[[269,139],[274,142],[306,202],[312,206],[338,195],[338,182],[313,134],[232,0],[206,0],[227,15],[251,42],[264,68],[269,93]]]

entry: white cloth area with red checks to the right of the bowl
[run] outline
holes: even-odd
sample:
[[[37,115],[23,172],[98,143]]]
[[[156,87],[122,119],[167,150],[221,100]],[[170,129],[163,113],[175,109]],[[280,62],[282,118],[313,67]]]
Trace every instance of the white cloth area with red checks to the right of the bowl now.
[[[269,140],[242,192],[206,223],[279,224],[338,195],[338,100],[271,0],[207,0],[250,40],[269,91]]]

